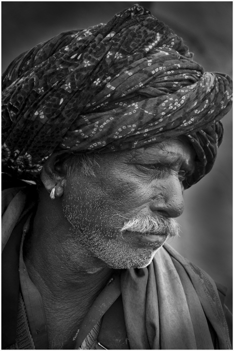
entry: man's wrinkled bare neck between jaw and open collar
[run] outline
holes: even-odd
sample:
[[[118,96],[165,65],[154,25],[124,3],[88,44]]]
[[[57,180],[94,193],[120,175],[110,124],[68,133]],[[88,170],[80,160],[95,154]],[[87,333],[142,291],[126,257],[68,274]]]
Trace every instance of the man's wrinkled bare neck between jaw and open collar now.
[[[81,245],[74,250],[69,224],[59,212],[56,206],[39,202],[25,264],[42,296],[49,347],[69,349],[112,270]]]

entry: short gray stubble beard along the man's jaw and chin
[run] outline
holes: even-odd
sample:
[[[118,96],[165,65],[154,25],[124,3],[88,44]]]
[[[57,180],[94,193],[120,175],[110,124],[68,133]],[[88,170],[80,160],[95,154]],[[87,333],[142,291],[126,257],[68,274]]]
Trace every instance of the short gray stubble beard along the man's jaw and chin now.
[[[92,223],[88,213],[83,218],[79,218],[79,212],[75,206],[63,205],[63,212],[65,218],[72,225],[69,239],[73,247],[73,259],[76,257],[76,252],[78,253],[79,246],[82,245],[90,252],[90,255],[99,258],[109,268],[113,269],[143,268],[148,266],[153,260],[156,251],[163,245],[166,239],[175,236],[175,232],[173,234],[167,233],[163,243],[158,243],[158,245],[154,243],[152,247],[149,244],[147,248],[133,248],[129,242],[124,240],[123,230],[117,228],[116,231],[105,230],[104,237],[103,233],[105,231],[102,230],[102,225],[100,225],[103,222],[100,222],[99,226],[97,226]],[[135,219],[133,219],[133,223]],[[169,222],[170,220],[166,219]],[[89,224],[89,228],[92,228],[91,233],[87,231],[87,224]],[[132,225],[133,229],[136,227],[135,224]],[[124,227],[126,227],[126,223]],[[131,225],[128,226],[128,229],[130,228]],[[145,223],[144,228],[147,229]],[[165,225],[163,230],[165,231]]]

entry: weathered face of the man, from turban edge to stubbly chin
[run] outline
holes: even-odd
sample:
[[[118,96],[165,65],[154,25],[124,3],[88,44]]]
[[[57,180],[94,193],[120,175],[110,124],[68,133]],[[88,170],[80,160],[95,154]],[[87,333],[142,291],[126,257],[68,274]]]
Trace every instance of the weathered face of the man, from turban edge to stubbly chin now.
[[[81,244],[111,268],[146,267],[165,240],[176,235],[171,218],[184,210],[182,182],[193,168],[190,146],[171,139],[101,155],[95,176],[77,169],[62,198],[65,218],[73,226],[74,252]]]

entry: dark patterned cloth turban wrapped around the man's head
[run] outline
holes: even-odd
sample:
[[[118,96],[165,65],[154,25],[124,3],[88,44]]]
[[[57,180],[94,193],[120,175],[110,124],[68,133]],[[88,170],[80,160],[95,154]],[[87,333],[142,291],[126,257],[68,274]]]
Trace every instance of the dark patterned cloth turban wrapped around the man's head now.
[[[196,183],[214,164],[232,83],[192,57],[138,4],[24,52],[3,74],[3,166],[30,179],[54,152],[107,153],[185,135],[197,154],[187,187]]]

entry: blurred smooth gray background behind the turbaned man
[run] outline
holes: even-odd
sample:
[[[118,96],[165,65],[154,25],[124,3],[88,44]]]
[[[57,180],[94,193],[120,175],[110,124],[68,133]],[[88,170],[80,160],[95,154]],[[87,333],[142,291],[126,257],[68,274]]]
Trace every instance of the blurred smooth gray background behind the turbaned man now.
[[[2,1],[2,71],[21,52],[60,32],[108,20],[134,1]],[[232,1],[140,1],[182,36],[206,71],[232,75]],[[232,114],[210,174],[185,191],[182,232],[170,244],[228,287],[232,310]]]

